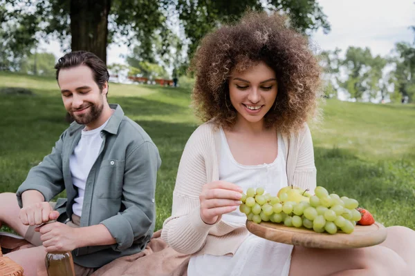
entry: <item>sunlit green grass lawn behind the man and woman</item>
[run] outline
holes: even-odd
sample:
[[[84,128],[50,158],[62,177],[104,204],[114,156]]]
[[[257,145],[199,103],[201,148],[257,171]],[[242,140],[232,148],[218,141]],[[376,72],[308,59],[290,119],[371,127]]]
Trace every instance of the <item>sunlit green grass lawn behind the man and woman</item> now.
[[[15,192],[68,126],[55,79],[0,72],[1,87],[35,96],[0,95],[0,193]],[[110,83],[109,101],[152,137],[163,159],[156,190],[157,221],[169,217],[178,161],[200,124],[190,90]],[[415,229],[415,107],[329,100],[311,126],[317,184],[354,197],[385,226]]]

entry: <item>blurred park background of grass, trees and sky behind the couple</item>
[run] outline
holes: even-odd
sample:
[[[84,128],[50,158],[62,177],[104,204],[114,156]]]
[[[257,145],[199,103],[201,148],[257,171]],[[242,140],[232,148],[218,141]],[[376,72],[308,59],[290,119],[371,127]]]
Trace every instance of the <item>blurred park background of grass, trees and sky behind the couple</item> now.
[[[0,193],[15,192],[68,127],[53,66],[88,50],[109,67],[109,101],[160,150],[161,228],[181,152],[201,124],[190,59],[205,34],[247,9],[288,14],[324,68],[323,117],[311,123],[317,185],[358,199],[386,226],[414,229],[415,3],[407,0],[0,0]]]

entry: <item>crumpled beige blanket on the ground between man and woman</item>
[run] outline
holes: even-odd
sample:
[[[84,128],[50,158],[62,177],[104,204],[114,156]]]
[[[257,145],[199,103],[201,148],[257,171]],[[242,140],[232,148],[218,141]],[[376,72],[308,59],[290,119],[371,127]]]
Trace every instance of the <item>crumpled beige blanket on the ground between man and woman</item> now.
[[[154,233],[145,250],[120,257],[102,266],[91,276],[181,276],[187,275],[190,255],[176,252],[161,239],[161,230]]]

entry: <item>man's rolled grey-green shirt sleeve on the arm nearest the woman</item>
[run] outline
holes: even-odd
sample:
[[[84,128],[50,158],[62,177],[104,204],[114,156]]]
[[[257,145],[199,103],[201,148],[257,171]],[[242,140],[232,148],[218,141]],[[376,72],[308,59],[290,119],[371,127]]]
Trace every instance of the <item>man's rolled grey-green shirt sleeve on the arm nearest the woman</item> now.
[[[160,155],[151,141],[127,152],[122,186],[122,204],[126,209],[101,222],[116,239],[114,250],[127,249],[134,240],[151,235],[149,230],[156,219],[154,197],[160,164]]]

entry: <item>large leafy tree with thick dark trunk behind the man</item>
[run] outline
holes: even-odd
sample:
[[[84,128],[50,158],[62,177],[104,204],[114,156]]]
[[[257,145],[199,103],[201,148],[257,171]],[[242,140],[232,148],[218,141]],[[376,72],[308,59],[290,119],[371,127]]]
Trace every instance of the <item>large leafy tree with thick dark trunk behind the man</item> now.
[[[12,11],[12,20],[30,19],[30,28],[23,26],[28,37],[57,37],[62,45],[71,37],[71,50],[89,50],[103,61],[107,45],[121,37],[127,37],[128,44],[140,41],[140,47],[151,52],[151,34],[166,28],[167,17],[180,21],[192,55],[199,39],[219,22],[240,17],[247,7],[261,10],[261,3],[290,14],[299,30],[330,30],[316,0],[0,0],[0,6]]]

